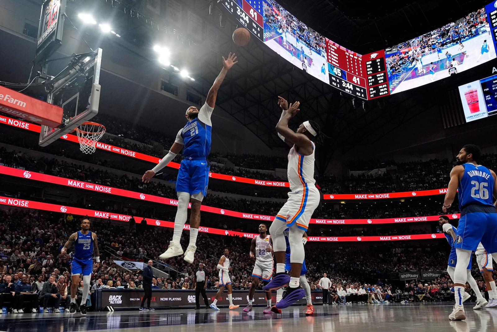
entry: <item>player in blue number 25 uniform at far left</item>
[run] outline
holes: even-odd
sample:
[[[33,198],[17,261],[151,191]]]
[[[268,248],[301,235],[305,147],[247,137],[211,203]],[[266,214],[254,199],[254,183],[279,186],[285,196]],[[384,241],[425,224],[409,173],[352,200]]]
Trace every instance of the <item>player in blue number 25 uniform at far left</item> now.
[[[80,276],[83,278],[83,297],[81,299],[80,311],[82,315],[86,315],[86,299],[90,290],[91,272],[93,271],[93,254],[95,255],[95,270],[100,266],[100,252],[98,250],[98,241],[96,234],[89,231],[90,221],[83,219],[81,222],[81,231],[73,233],[64,247],[61,249],[61,254],[66,254],[67,250],[74,243],[74,255],[71,263],[71,306],[69,312],[76,312],[76,295],[78,293],[78,285],[80,284]]]

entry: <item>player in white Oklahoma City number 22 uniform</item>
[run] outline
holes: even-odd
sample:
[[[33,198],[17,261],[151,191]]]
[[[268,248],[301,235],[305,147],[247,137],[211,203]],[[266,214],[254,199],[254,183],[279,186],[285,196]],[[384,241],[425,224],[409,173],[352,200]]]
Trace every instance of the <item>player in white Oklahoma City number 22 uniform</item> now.
[[[253,294],[255,288],[259,284],[259,279],[265,285],[271,280],[273,276],[273,241],[271,235],[267,234],[267,226],[265,224],[259,225],[259,235],[252,239],[250,245],[250,257],[255,257],[255,265],[252,271],[252,284],[248,290],[248,306],[244,312],[248,313],[252,310]],[[266,291],[267,307],[264,309],[264,314],[271,313],[271,292]]]

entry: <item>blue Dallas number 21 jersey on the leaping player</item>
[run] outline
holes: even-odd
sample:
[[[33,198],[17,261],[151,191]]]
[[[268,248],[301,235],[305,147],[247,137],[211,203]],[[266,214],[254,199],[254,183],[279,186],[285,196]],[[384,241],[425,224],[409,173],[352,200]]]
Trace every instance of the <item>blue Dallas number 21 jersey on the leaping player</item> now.
[[[198,119],[193,119],[181,130],[183,138],[183,156],[186,158],[206,158],[211,152],[212,126]]]

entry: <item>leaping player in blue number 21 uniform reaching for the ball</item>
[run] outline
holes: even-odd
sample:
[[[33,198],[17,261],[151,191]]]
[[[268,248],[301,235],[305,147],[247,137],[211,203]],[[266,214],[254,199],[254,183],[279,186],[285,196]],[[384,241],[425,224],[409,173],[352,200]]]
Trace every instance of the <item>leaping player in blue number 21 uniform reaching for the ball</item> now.
[[[163,169],[181,150],[184,159],[181,161],[176,180],[176,193],[178,195],[178,209],[174,219],[174,232],[169,247],[160,259],[165,260],[174,256],[183,255],[183,249],[179,243],[181,233],[186,222],[188,203],[191,202],[190,213],[190,243],[186,248],[184,260],[193,263],[195,251],[197,250],[198,227],[200,226],[200,206],[207,195],[209,181],[210,163],[207,159],[211,150],[211,115],[216,104],[217,92],[223,82],[228,70],[238,61],[235,53],[223,57],[223,69],[212,84],[207,94],[207,99],[200,111],[195,106],[186,110],[188,121],[176,135],[174,144],[162,160],[151,170],[145,172],[142,181],[149,183],[150,179]]]

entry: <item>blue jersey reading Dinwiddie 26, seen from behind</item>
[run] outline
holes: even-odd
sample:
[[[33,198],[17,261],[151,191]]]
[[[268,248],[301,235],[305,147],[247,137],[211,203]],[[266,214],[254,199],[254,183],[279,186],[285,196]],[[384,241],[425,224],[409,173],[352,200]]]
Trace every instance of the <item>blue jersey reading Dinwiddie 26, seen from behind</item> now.
[[[489,169],[472,163],[462,166],[464,174],[458,186],[459,208],[470,204],[494,206],[494,177]]]

